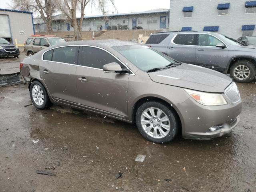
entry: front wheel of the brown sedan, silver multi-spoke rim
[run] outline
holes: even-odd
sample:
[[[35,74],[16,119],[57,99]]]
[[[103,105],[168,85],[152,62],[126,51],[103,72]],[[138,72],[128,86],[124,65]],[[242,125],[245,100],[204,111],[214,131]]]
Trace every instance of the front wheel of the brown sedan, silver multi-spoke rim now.
[[[146,102],[136,112],[136,125],[147,140],[156,143],[172,141],[178,134],[176,113],[161,102]]]

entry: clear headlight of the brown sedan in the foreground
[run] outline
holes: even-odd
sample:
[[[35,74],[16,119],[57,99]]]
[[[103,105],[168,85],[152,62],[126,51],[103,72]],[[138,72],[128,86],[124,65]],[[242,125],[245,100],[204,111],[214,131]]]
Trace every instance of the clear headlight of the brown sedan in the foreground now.
[[[217,106],[228,104],[222,94],[206,93],[201,91],[194,91],[184,89],[194,100],[206,106]]]

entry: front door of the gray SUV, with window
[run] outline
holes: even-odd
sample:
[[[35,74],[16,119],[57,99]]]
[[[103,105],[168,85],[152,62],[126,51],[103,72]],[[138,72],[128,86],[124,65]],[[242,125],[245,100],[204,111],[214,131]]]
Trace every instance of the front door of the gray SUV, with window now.
[[[196,64],[218,71],[224,70],[227,63],[228,48],[216,47],[217,44],[224,43],[210,34],[198,34]]]

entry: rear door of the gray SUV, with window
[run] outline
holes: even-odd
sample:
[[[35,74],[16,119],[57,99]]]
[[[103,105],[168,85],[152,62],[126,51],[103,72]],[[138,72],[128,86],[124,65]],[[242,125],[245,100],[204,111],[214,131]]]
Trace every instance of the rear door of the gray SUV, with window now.
[[[167,47],[167,55],[184,63],[195,63],[197,34],[176,34]]]

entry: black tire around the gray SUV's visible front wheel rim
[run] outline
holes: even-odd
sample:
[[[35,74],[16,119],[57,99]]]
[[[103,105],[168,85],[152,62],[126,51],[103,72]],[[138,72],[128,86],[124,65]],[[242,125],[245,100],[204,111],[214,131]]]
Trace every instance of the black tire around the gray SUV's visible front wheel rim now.
[[[238,66],[246,66],[250,71],[250,74],[248,75],[247,78],[244,78],[244,79],[239,79],[235,76],[235,69],[236,67]],[[249,83],[251,82],[252,80],[254,80],[254,77],[256,75],[256,69],[255,69],[255,65],[250,62],[250,61],[247,61],[247,60],[240,60],[240,61],[237,61],[235,62],[231,68],[230,68],[230,77],[235,81],[235,82],[239,82],[239,83]]]

